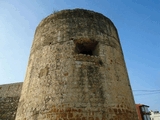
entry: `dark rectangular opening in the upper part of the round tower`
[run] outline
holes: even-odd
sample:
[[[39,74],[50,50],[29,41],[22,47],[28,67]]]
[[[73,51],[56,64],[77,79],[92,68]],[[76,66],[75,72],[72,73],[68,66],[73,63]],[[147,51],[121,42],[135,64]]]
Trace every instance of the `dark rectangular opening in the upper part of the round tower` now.
[[[75,41],[75,51],[78,54],[98,55],[97,41],[81,39]]]

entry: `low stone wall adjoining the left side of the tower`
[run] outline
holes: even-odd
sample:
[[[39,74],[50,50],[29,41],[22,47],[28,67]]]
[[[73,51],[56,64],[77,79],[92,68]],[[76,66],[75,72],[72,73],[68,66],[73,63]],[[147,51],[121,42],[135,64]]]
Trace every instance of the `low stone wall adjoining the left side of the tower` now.
[[[0,85],[0,120],[15,120],[22,83]]]

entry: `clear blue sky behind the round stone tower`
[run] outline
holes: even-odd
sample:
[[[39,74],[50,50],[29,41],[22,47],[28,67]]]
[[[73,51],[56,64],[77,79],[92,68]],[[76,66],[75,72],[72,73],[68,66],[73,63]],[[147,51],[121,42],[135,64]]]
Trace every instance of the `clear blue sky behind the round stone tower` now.
[[[22,82],[39,22],[54,11],[84,8],[118,29],[136,103],[160,110],[160,0],[0,0],[0,84]],[[147,94],[147,95],[144,95]]]

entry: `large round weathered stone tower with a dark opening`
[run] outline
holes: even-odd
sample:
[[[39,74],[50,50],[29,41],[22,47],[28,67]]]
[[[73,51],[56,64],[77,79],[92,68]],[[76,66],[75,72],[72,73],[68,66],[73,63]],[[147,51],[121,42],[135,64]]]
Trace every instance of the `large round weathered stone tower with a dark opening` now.
[[[62,10],[38,25],[16,120],[137,120],[114,24]]]

